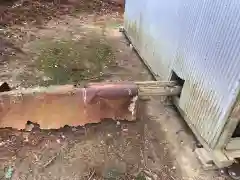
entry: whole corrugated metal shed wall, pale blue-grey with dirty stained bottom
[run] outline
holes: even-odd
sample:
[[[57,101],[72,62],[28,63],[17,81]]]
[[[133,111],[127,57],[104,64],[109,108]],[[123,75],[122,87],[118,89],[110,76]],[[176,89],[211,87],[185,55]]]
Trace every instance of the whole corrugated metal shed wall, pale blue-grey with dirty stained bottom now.
[[[214,148],[239,91],[239,0],[126,0],[125,29],[152,71],[185,80],[180,98]]]

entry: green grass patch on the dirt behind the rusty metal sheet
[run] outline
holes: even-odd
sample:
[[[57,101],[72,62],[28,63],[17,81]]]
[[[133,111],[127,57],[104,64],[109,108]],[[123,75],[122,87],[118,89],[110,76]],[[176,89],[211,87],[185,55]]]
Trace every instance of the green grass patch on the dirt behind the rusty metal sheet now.
[[[107,41],[96,37],[79,41],[46,41],[39,48],[37,67],[49,78],[41,85],[77,84],[96,79],[115,59]]]

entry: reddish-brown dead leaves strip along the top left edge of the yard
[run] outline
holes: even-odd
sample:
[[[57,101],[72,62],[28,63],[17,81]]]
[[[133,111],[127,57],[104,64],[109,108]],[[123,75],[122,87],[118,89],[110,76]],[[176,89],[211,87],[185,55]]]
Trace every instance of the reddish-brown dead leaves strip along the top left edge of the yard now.
[[[0,1],[0,26],[36,24],[41,25],[61,15],[109,14],[123,12],[122,6],[101,0],[20,0],[12,3]]]

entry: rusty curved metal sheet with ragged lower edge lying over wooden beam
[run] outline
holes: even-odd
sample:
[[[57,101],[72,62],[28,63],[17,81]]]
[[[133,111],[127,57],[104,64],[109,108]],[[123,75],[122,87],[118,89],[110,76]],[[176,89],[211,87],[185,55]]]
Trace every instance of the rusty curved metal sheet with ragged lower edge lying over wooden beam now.
[[[0,128],[24,129],[27,121],[41,129],[98,123],[104,119],[135,120],[137,86],[72,85],[9,91],[0,94]]]

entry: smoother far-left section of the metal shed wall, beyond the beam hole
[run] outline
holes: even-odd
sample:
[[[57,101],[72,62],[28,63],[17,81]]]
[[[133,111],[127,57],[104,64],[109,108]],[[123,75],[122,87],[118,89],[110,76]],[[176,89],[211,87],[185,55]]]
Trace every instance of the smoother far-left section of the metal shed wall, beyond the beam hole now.
[[[139,0],[137,3],[134,0],[126,1],[124,26],[128,36],[132,37],[134,46],[152,71],[162,79],[168,79],[170,76],[177,47],[178,30],[173,22],[177,22],[175,19],[178,15],[178,1]],[[138,19],[132,16],[133,12],[140,12]],[[139,34],[141,43],[137,43],[137,38],[132,35],[132,30],[129,28],[136,19],[141,24],[138,31],[141,32]]]

